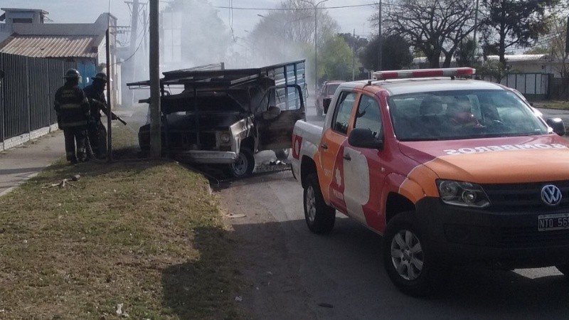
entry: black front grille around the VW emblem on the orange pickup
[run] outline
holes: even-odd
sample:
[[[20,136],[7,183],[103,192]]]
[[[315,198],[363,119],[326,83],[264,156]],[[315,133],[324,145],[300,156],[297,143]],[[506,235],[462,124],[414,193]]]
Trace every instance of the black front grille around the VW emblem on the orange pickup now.
[[[547,206],[541,200],[541,188],[547,184],[557,186],[563,198],[558,206]],[[485,184],[482,186],[490,199],[491,211],[526,212],[540,210],[545,212],[569,210],[569,181],[539,183]]]

